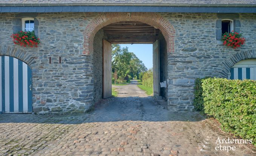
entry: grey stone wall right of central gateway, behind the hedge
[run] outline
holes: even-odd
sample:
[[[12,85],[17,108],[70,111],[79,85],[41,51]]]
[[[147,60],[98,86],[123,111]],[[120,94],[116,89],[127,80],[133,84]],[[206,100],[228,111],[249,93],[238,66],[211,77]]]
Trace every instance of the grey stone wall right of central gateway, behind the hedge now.
[[[241,14],[241,33],[247,38],[246,45],[232,49],[217,43],[216,13],[162,13],[175,28],[175,52],[168,54],[168,104],[175,111],[193,109],[193,87],[196,78],[206,76],[228,78],[230,58],[237,61],[255,58],[256,14]],[[253,43],[254,42],[254,43]],[[242,57],[243,53],[248,57]]]

